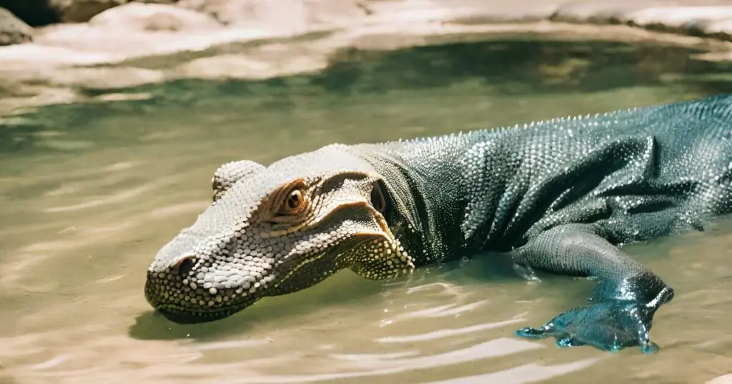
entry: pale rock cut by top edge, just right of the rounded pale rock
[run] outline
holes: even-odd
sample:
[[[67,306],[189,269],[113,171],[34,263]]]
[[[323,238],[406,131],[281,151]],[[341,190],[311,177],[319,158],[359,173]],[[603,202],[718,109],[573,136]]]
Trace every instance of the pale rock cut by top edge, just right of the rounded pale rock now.
[[[291,34],[315,26],[345,26],[368,13],[356,0],[180,0],[177,5],[226,25]]]

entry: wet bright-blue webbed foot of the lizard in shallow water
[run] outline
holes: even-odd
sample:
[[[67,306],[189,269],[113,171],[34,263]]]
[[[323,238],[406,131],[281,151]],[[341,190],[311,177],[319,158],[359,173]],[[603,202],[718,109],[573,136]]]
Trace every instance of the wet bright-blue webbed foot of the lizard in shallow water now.
[[[516,335],[527,339],[553,337],[559,347],[591,345],[616,352],[638,345],[643,353],[655,353],[649,331],[654,307],[634,301],[609,301],[570,309],[541,328],[526,327]]]

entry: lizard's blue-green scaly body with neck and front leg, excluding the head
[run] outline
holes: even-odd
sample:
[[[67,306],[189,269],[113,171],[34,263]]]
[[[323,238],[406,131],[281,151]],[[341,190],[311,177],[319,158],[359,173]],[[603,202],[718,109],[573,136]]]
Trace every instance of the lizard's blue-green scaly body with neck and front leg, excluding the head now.
[[[731,132],[723,95],[356,150],[409,202],[417,265],[492,250],[529,274],[600,278],[590,306],[520,336],[650,352],[646,328],[673,290],[617,246],[732,211]]]

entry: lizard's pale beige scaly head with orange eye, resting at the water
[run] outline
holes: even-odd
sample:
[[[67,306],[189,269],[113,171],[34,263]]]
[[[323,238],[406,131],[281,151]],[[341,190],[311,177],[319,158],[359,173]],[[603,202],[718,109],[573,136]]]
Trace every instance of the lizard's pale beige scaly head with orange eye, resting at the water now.
[[[343,268],[369,279],[406,274],[414,265],[389,229],[388,189],[341,146],[269,167],[223,165],[212,205],[150,265],[147,301],[176,323],[204,323]]]

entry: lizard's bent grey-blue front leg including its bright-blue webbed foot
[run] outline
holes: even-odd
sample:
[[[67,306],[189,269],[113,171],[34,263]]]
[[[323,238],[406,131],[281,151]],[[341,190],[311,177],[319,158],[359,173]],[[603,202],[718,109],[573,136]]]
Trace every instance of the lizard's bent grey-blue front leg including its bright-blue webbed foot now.
[[[673,289],[641,263],[608,242],[595,225],[554,227],[512,252],[515,263],[556,274],[594,276],[599,284],[589,305],[570,309],[539,328],[516,331],[521,337],[552,336],[560,347],[592,345],[616,351],[638,345],[653,353],[649,331],[657,309]]]

